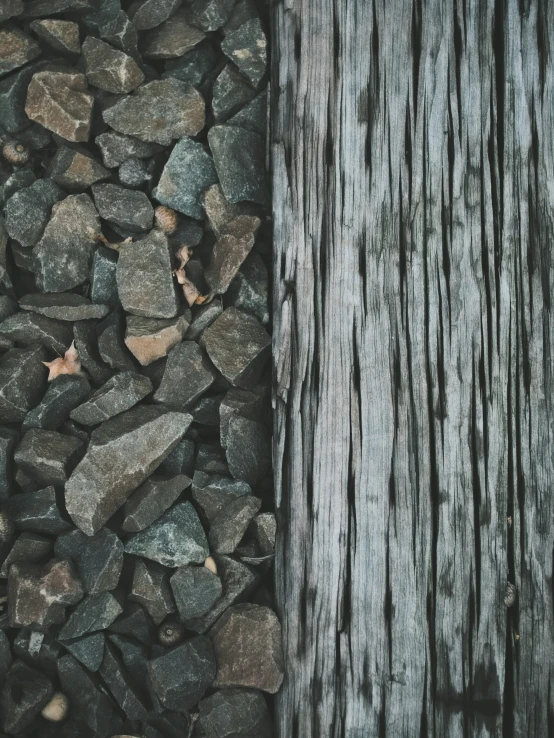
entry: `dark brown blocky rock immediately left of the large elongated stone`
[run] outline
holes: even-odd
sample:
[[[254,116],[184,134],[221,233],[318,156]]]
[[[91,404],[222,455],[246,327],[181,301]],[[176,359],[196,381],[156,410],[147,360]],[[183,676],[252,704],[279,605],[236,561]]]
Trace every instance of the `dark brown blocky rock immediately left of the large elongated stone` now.
[[[40,484],[65,484],[83,444],[57,431],[32,428],[14,453],[14,461]]]

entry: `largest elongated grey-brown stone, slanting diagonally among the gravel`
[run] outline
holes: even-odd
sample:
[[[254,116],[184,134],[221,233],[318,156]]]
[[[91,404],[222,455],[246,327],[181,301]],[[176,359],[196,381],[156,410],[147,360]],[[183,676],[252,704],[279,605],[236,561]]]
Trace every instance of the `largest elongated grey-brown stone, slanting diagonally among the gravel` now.
[[[96,533],[176,446],[190,422],[185,413],[138,407],[97,428],[65,488],[75,524],[87,535]]]

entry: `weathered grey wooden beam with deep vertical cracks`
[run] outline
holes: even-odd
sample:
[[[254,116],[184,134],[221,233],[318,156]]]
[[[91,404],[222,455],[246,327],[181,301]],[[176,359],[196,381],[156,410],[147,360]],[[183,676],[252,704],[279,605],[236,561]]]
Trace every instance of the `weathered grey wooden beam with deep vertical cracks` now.
[[[553,53],[552,0],[273,6],[280,738],[554,736]]]

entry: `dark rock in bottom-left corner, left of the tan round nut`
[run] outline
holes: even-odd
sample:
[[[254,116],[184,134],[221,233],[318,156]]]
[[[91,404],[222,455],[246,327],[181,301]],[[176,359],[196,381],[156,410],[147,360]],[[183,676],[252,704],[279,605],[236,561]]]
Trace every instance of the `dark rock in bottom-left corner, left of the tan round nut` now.
[[[15,661],[0,695],[4,731],[14,734],[25,730],[53,693],[52,682],[40,671],[32,669],[22,661]]]

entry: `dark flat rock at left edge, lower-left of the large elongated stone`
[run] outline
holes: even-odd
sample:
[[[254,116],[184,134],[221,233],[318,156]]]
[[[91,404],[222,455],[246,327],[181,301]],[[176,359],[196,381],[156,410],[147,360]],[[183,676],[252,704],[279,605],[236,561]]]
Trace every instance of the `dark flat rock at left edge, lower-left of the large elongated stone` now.
[[[19,530],[58,535],[71,528],[60,514],[54,487],[12,495],[6,509]]]

